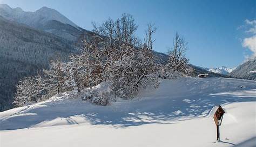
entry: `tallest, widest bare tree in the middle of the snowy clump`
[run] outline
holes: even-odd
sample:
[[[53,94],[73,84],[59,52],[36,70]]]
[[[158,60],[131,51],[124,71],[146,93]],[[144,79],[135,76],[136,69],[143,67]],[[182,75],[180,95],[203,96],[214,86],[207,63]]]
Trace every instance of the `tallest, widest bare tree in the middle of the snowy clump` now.
[[[138,27],[130,14],[94,26],[104,59],[102,72],[111,83],[115,97],[117,94],[133,98],[149,82],[156,83],[157,66],[152,53],[152,34],[156,29],[152,25],[149,25],[143,44],[135,35]]]

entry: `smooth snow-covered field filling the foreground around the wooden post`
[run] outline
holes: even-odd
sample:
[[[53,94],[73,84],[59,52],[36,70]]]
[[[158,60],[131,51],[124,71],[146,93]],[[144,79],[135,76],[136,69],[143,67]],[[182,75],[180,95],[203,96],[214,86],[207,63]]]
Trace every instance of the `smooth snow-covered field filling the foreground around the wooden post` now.
[[[226,113],[215,143],[218,104]],[[0,146],[255,146],[255,123],[255,81],[180,78],[109,106],[63,93],[1,112]]]

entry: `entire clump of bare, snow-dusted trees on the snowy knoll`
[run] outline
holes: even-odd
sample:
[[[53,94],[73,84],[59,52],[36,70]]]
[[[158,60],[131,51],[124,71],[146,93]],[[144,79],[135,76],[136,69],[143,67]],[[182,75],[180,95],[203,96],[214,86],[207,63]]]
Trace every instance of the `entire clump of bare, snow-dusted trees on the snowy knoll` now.
[[[153,54],[152,35],[156,32],[153,25],[148,25],[143,41],[136,36],[138,26],[130,14],[123,14],[116,21],[109,18],[102,25],[94,23],[93,26],[94,35],[83,41],[80,54],[71,55],[66,63],[58,58],[51,62],[49,70],[44,70],[43,76],[40,76],[43,83],[40,88],[33,86],[39,85],[37,78],[24,78],[19,82],[14,101],[16,106],[24,105],[27,101],[37,102],[38,97],[40,99],[44,94],[48,95],[44,97],[50,97],[70,90],[80,92],[86,87],[92,89],[102,82],[110,85],[113,101],[117,96],[134,98],[147,85],[158,86],[162,69],[173,73],[188,71],[188,59],[185,57],[187,44],[178,34],[174,38],[169,62],[161,65]],[[38,91],[34,90],[36,87]],[[97,102],[106,105],[106,96],[99,97],[104,102],[98,99]],[[92,100],[91,97],[88,99]]]

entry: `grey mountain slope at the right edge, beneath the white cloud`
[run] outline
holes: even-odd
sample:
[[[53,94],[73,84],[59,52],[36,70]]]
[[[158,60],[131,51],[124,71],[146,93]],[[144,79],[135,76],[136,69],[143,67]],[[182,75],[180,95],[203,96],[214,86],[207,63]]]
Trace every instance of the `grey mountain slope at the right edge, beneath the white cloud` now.
[[[248,60],[234,69],[230,76],[235,78],[256,80],[256,58]]]

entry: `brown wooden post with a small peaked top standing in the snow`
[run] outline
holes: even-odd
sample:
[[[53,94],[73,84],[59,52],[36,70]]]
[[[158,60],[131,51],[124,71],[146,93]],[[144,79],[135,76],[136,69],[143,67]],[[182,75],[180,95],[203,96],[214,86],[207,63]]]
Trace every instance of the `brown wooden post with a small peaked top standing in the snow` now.
[[[225,111],[224,109],[219,105],[217,111],[214,113],[213,119],[217,127],[217,141],[220,142],[220,125],[223,119]]]

